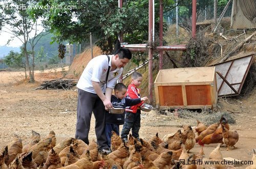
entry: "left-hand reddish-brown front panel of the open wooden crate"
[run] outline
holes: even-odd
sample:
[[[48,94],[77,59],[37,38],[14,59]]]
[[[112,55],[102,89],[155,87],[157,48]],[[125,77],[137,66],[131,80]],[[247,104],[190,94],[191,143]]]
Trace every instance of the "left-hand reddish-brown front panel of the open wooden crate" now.
[[[165,106],[180,106],[183,105],[181,86],[159,86],[159,102]]]

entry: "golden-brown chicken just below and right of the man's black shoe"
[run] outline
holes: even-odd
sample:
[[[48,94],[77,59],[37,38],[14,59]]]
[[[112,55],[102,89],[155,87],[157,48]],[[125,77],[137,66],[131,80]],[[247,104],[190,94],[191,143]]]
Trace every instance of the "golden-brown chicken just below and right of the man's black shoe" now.
[[[116,161],[117,164],[123,166],[124,161],[129,157],[129,148],[122,143],[116,151],[113,151],[108,155],[110,158]]]

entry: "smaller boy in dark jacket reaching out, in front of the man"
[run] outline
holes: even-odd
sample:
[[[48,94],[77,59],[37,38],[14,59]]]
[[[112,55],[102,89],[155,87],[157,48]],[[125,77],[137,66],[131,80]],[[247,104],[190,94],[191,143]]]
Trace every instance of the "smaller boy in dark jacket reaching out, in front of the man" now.
[[[111,96],[111,103],[115,108],[125,108],[126,106],[133,106],[141,103],[141,101],[147,100],[147,97],[129,99],[125,98],[127,87],[123,83],[117,83],[114,88],[115,95]],[[119,135],[119,125],[124,124],[124,113],[123,114],[110,114],[106,111],[105,120],[105,134],[108,139],[108,145],[111,146],[111,131],[115,131]]]

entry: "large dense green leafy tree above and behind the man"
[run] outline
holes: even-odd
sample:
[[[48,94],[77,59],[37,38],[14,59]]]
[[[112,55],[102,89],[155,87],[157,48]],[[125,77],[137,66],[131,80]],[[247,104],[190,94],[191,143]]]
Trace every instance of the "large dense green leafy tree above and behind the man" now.
[[[164,6],[168,6],[172,1],[164,1]],[[75,6],[74,9],[59,9],[48,6]],[[112,53],[113,43],[120,32],[123,33],[124,41],[132,43],[146,43],[148,37],[148,1],[147,0],[127,0],[123,3],[123,8],[118,8],[116,0],[39,0],[35,6],[42,9],[33,8],[29,13],[34,19],[42,16],[46,18],[45,26],[55,35],[54,40],[62,43],[69,40],[70,43],[89,39],[90,32],[98,41],[104,53]],[[159,2],[156,3],[156,25],[159,21]],[[166,24],[165,24],[166,28]],[[156,26],[156,34],[159,26]]]

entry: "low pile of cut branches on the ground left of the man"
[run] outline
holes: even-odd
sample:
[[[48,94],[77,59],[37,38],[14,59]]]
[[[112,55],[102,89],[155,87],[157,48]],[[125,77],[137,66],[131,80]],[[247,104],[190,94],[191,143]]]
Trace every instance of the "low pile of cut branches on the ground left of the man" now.
[[[71,87],[76,86],[76,79],[55,79],[50,81],[43,81],[41,86],[36,89],[64,89],[69,90]],[[34,89],[34,90],[36,90]]]

